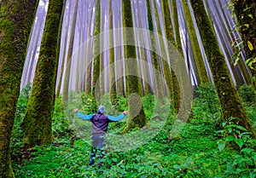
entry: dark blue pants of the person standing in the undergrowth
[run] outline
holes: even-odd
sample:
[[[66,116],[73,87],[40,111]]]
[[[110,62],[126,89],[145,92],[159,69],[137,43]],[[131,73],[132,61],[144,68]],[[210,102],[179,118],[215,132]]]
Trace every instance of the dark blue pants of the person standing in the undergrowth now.
[[[104,152],[103,148],[106,146],[104,135],[92,135],[92,147],[90,153],[90,165],[94,164],[94,159],[96,158],[96,152],[100,151],[101,156],[97,158],[103,158]]]

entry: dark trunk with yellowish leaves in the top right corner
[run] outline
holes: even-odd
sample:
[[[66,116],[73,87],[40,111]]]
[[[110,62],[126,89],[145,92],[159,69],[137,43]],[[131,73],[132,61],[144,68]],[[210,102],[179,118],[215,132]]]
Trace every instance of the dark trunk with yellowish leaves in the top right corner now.
[[[256,2],[254,0],[231,0],[241,33],[243,47],[252,72],[252,83],[256,90]],[[250,63],[251,62],[251,63]]]

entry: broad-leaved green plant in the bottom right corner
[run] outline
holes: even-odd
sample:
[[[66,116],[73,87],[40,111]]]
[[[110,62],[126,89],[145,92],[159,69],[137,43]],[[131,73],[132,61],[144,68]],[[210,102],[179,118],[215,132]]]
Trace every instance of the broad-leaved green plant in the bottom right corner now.
[[[232,155],[231,161],[227,164],[226,173],[228,175],[242,175],[243,177],[256,176],[256,140],[251,138],[251,133],[247,129],[236,125],[230,118],[230,122],[223,123],[226,132],[225,140],[218,141],[219,151],[223,151],[225,146],[235,146],[239,152]]]

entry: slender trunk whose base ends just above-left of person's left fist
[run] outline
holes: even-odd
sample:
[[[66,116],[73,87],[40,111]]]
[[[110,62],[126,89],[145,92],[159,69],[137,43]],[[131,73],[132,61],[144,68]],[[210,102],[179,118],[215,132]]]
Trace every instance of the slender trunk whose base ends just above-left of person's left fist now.
[[[65,70],[65,78],[63,84],[63,93],[62,93],[62,106],[67,107],[68,103],[68,89],[69,89],[69,81],[70,81],[70,72],[71,72],[71,63],[72,63],[72,55],[73,55],[73,45],[74,45],[74,37],[75,37],[75,29],[77,23],[77,16],[79,10],[79,0],[75,1],[75,5],[73,8],[73,20],[70,32],[70,41],[68,44],[67,51],[67,62],[66,62],[66,70]]]

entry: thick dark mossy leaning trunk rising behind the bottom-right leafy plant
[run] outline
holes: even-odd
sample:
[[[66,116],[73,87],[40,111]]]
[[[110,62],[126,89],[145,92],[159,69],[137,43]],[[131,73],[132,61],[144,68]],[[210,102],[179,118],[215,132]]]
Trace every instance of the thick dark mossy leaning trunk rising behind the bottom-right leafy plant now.
[[[224,122],[231,117],[236,118],[234,122],[248,131],[255,137],[255,131],[247,118],[247,114],[241,105],[236,88],[230,78],[228,67],[222,55],[212,24],[207,16],[202,0],[191,0],[195,13],[195,20],[199,27],[202,43],[207,54],[207,60],[212,71],[212,78],[217,89],[218,100],[220,101]]]

